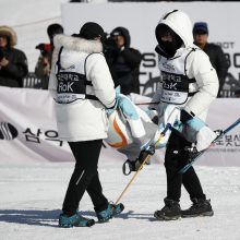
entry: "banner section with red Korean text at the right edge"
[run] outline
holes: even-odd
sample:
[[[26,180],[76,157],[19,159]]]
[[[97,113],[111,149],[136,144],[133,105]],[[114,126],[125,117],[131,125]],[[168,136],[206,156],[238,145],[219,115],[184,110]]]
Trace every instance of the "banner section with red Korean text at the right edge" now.
[[[240,118],[240,98],[217,98],[211,106],[207,124],[225,130]],[[201,165],[240,166],[240,124],[217,141],[199,160]]]

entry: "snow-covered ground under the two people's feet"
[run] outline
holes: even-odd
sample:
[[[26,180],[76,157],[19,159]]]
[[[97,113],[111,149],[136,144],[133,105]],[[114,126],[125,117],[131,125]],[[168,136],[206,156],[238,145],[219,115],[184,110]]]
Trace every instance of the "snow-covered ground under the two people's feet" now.
[[[99,173],[105,194],[116,201],[131,176],[121,172],[121,161],[101,160]],[[199,167],[204,191],[212,200],[214,217],[176,221],[157,221],[153,213],[163,207],[166,194],[165,169],[160,164],[146,166],[122,197],[123,213],[107,224],[91,228],[61,229],[58,215],[73,163],[1,164],[0,168],[0,239],[178,239],[238,240],[240,239],[240,168]],[[190,205],[182,192],[182,208]],[[88,195],[80,209],[96,219]]]

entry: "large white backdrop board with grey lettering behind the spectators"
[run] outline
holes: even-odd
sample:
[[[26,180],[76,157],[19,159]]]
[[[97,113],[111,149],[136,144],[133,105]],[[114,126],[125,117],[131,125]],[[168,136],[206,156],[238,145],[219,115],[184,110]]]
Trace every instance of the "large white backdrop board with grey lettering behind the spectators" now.
[[[229,60],[228,84],[225,88],[235,87],[236,83],[240,86],[240,2],[65,3],[62,5],[62,23],[70,35],[79,33],[88,21],[101,24],[107,33],[117,26],[127,27],[131,46],[143,53],[141,83],[152,82],[142,87],[142,93],[151,94],[159,75],[154,50],[157,45],[155,27],[161,15],[172,9],[187,12],[193,23],[207,22],[208,40],[220,45]]]

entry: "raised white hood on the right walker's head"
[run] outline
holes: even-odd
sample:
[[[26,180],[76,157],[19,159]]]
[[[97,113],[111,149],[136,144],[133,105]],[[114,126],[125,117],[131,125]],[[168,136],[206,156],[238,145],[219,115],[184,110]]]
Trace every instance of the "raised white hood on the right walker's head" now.
[[[171,10],[164,14],[158,24],[169,26],[179,37],[181,37],[185,47],[193,45],[192,22],[184,12]]]

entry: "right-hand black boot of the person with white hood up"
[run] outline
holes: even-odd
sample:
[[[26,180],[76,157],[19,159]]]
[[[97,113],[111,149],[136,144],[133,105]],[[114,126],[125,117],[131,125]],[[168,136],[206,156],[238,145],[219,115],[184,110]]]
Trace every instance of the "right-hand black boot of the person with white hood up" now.
[[[212,217],[214,215],[209,200],[192,199],[192,202],[193,204],[189,209],[181,211],[182,217]]]

